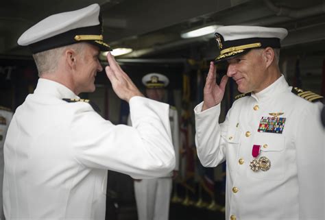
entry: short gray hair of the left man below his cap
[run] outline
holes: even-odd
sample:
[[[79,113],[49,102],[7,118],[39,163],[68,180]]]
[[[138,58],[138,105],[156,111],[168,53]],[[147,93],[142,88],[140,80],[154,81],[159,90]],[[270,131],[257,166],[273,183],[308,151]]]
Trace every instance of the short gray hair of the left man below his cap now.
[[[44,73],[55,72],[58,68],[60,57],[63,55],[66,49],[71,48],[74,49],[77,53],[81,53],[83,51],[83,46],[84,43],[76,43],[73,45],[49,49],[47,51],[33,54],[33,58],[38,70],[38,76],[40,77]]]

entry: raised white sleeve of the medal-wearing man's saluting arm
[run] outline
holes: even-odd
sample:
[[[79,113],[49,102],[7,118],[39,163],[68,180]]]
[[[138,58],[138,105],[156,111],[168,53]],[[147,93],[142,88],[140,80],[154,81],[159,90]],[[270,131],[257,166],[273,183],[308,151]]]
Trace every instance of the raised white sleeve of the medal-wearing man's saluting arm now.
[[[197,156],[204,167],[216,167],[226,160],[226,141],[222,136],[226,136],[228,114],[226,121],[219,124],[220,104],[203,112],[202,106],[203,102],[194,108]]]

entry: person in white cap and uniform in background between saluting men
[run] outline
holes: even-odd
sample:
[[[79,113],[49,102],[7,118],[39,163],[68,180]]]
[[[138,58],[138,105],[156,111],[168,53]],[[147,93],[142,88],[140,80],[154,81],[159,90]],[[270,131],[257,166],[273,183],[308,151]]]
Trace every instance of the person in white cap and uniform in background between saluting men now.
[[[143,76],[145,94],[149,99],[163,101],[165,87],[169,79],[160,73],[148,73]],[[130,117],[129,117],[130,119]],[[178,112],[175,107],[169,108],[169,121],[171,125],[171,138],[176,155],[175,169],[160,178],[147,180],[134,180],[134,195],[139,220],[168,220],[169,203],[171,197],[172,180],[176,178],[179,170],[180,129],[178,125]],[[131,125],[131,121],[128,120]]]

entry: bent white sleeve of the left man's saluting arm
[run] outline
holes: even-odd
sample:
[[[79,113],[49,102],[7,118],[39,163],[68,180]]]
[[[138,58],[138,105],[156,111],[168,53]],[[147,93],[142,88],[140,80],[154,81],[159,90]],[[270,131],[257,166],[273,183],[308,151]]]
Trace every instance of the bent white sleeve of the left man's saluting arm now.
[[[132,126],[113,125],[94,111],[75,112],[71,145],[86,167],[110,169],[132,178],[166,175],[175,167],[169,105],[144,97],[130,99]]]

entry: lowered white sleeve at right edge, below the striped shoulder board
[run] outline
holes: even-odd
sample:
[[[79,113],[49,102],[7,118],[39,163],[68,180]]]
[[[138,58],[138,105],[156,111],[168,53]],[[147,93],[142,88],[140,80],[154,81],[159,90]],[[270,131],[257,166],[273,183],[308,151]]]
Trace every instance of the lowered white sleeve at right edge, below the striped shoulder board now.
[[[325,219],[324,143],[325,130],[320,119],[321,103],[302,110],[296,130],[296,162],[299,184],[300,219]]]

